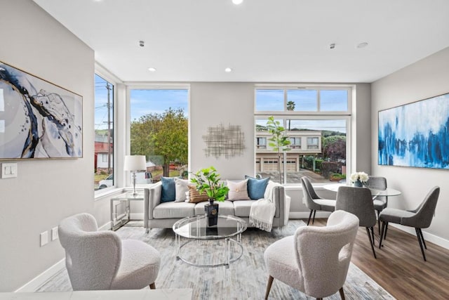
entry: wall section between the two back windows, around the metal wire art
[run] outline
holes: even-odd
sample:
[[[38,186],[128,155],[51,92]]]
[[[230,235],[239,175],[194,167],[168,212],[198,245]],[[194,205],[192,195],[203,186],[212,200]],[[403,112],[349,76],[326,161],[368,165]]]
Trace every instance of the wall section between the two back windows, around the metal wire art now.
[[[213,166],[222,179],[239,180],[254,175],[254,84],[192,83],[190,89],[190,168]],[[245,137],[243,155],[206,157],[203,136],[209,127],[240,125]]]

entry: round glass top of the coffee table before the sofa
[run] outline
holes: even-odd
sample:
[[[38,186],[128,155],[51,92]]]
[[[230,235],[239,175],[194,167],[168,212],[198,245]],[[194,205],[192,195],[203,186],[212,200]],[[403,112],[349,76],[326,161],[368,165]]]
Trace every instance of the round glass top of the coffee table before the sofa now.
[[[173,224],[173,231],[195,240],[220,240],[239,235],[246,230],[246,221],[236,216],[218,215],[216,226],[207,226],[206,215],[188,216]]]

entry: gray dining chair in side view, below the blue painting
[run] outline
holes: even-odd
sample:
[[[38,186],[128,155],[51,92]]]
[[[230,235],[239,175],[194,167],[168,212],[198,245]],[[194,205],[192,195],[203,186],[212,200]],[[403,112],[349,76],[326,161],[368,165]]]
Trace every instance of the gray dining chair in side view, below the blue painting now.
[[[380,215],[379,219],[382,221],[382,231],[380,233],[379,248],[382,247],[382,239],[387,236],[387,229],[389,223],[401,224],[415,228],[416,237],[420,244],[422,258],[426,261],[426,254],[424,248],[427,249],[424,236],[422,235],[422,228],[428,228],[431,224],[432,217],[435,214],[436,202],[440,195],[440,188],[435,186],[431,188],[424,201],[413,210],[394,209],[387,207]],[[423,247],[424,246],[424,247]]]

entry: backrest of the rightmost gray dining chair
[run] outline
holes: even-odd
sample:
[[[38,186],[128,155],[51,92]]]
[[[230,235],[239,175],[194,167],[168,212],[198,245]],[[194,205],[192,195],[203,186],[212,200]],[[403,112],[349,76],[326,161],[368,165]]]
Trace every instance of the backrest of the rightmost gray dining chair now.
[[[438,202],[439,195],[440,187],[435,186],[429,193],[427,193],[424,201],[421,202],[417,209],[410,210],[414,212],[415,215],[401,218],[401,224],[415,228],[428,228],[431,224],[432,217],[435,214],[436,202]]]

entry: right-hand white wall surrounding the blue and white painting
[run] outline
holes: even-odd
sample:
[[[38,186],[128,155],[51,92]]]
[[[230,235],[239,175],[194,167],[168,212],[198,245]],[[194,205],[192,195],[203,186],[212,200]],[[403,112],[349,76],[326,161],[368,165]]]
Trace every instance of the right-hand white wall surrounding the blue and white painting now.
[[[402,191],[399,197],[389,197],[389,207],[415,209],[434,185],[441,187],[436,216],[430,228],[423,230],[433,242],[449,246],[449,171],[377,165],[377,112],[390,107],[438,96],[449,92],[449,48],[409,65],[372,84],[371,105],[371,169],[376,176],[387,178],[391,188]],[[413,231],[414,233],[414,231]]]

